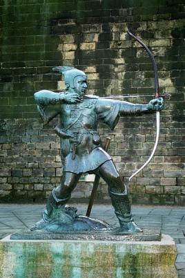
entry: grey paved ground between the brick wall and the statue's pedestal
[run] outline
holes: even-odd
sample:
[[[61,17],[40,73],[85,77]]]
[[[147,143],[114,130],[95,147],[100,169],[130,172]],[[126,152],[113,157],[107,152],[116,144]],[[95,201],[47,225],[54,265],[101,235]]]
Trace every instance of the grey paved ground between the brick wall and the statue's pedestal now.
[[[87,205],[74,205],[79,214],[86,214]],[[0,239],[24,228],[30,228],[41,219],[45,205],[0,205]],[[148,207],[133,205],[135,222],[141,228],[161,229],[175,240],[178,250],[176,268],[179,278],[185,277],[185,207]],[[93,218],[119,226],[113,207],[95,205]],[[184,230],[184,232],[183,232]]]

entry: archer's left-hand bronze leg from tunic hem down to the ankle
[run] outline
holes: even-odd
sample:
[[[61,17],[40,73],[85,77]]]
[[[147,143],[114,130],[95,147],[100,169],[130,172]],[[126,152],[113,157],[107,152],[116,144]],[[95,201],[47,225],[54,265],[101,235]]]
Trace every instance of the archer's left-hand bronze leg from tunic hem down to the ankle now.
[[[48,197],[46,210],[43,214],[44,222],[50,222],[59,217],[59,214],[70,199],[71,192],[75,189],[80,176],[80,174],[64,172],[61,177],[61,185],[53,189]]]

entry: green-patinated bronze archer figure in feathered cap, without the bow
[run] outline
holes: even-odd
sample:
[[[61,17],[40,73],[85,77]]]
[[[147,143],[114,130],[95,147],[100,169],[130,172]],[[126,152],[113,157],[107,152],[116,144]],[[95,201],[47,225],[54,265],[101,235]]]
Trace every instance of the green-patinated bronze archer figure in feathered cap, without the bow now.
[[[61,140],[63,176],[61,184],[53,189],[48,198],[43,219],[35,224],[32,231],[43,230],[52,221],[59,219],[62,219],[62,226],[68,225],[70,221],[64,214],[65,205],[81,174],[88,173],[96,174],[106,181],[120,228],[129,233],[142,232],[133,221],[126,186],[112,158],[101,145],[97,124],[101,120],[113,130],[120,116],[162,110],[162,98],[150,100],[148,104],[86,98],[87,77],[83,71],[67,66],[54,70],[64,75],[67,92],[39,91],[35,93],[35,101],[45,124],[59,115],[60,124],[55,127],[55,131]]]

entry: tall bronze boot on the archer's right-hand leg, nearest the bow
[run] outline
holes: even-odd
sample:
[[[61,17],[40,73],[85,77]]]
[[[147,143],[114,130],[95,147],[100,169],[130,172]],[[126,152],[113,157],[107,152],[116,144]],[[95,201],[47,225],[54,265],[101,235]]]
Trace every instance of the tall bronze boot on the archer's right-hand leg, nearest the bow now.
[[[128,230],[128,232],[142,232],[142,229],[133,220],[127,190],[125,189],[124,193],[109,192],[109,195],[120,227]]]

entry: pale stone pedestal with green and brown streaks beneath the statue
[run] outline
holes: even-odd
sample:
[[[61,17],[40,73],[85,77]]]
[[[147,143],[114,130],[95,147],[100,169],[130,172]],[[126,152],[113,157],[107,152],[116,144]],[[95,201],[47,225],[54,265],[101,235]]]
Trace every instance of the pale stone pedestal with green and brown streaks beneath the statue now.
[[[0,241],[0,277],[176,278],[177,249],[162,241]]]

